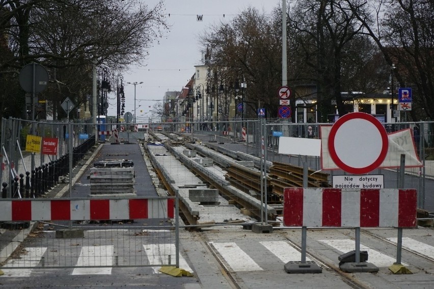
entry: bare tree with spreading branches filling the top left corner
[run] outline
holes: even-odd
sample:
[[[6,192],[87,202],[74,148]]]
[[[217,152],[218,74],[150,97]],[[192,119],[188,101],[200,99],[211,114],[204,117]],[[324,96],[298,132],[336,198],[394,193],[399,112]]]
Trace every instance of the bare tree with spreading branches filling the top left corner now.
[[[0,30],[8,35],[12,55],[0,69],[16,75],[26,63],[41,63],[53,80],[43,93],[67,95],[78,103],[78,95],[90,90],[93,65],[115,72],[142,63],[168,29],[162,0],[154,7],[138,0],[10,0],[0,5]]]

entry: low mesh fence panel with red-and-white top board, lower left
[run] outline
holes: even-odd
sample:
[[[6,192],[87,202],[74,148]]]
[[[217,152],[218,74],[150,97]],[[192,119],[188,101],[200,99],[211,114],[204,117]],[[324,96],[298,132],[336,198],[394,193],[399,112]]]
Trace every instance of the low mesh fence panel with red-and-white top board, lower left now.
[[[9,199],[0,207],[1,221],[30,227],[15,237],[23,240],[18,248],[12,242],[0,252],[5,275],[23,274],[9,269],[73,268],[72,275],[110,274],[113,267],[191,270],[179,255],[172,197]]]

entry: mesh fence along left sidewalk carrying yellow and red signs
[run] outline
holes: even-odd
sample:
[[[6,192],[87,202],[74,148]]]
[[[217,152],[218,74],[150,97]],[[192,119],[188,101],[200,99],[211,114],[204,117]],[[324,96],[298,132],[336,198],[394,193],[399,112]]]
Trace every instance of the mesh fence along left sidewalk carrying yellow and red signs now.
[[[2,198],[40,197],[60,179],[73,177],[72,168],[95,145],[86,123],[3,119],[2,127]]]

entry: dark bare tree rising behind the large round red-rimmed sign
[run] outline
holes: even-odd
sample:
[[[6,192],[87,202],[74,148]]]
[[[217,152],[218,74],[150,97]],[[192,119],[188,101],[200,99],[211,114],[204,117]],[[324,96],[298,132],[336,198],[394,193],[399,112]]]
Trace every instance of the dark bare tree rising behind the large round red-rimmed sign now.
[[[363,36],[363,26],[344,3],[300,0],[289,18],[294,34],[290,46],[297,48],[293,68],[299,75],[294,77],[299,82],[316,83],[320,121],[327,121],[327,114],[334,113],[332,100],[339,115],[349,112],[342,91],[366,93],[378,87],[376,73],[366,77],[375,46]],[[369,72],[374,71],[371,67]]]

